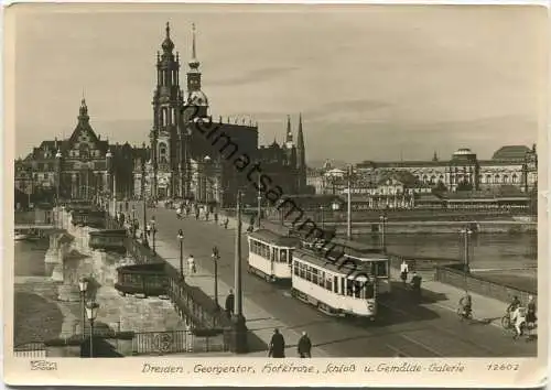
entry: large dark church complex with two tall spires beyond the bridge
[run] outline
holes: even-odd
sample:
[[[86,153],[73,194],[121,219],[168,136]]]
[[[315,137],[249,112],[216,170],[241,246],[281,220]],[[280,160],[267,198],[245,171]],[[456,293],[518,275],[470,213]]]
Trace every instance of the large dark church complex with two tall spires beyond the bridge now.
[[[170,25],[158,53],[156,87],[153,95],[153,126],[149,151],[133,164],[133,191],[138,197],[183,198],[220,207],[236,202],[238,191],[245,203],[257,202],[250,177],[229,161],[246,154],[250,164],[281,183],[291,193],[306,191],[304,134],[299,120],[298,144],[288,121],[285,144],[258,148],[258,124],[245,119],[214,119],[202,87],[201,63],[196,56],[193,29],[192,58],[186,89],[180,86],[180,55],[174,55]]]

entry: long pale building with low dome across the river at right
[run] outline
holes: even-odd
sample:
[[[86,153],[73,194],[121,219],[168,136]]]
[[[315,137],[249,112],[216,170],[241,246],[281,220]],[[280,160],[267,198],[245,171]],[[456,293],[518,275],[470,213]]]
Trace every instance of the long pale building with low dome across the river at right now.
[[[318,194],[342,195],[347,172],[327,161],[309,171],[307,182]],[[527,204],[538,187],[538,154],[536,145],[506,145],[489,160],[462,148],[446,160],[434,153],[425,161],[364,161],[354,165],[350,184],[356,202],[366,208]]]

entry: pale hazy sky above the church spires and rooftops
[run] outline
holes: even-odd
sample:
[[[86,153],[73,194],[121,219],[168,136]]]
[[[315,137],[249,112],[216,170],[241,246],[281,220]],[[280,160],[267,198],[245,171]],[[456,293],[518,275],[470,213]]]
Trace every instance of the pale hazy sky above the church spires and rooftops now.
[[[489,159],[544,126],[547,10],[454,6],[12,6],[15,154],[68,138],[84,96],[101,138],[141,144],[170,22],[183,62],[192,23],[215,118],[281,142],[303,117],[307,161]]]

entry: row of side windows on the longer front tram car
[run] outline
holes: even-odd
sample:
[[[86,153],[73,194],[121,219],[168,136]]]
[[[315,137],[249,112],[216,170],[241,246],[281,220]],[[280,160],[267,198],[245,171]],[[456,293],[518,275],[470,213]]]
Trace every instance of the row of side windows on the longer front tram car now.
[[[355,280],[335,275],[301,261],[294,261],[293,272],[296,278],[304,279],[338,295],[364,300],[375,296],[375,285],[371,280]]]

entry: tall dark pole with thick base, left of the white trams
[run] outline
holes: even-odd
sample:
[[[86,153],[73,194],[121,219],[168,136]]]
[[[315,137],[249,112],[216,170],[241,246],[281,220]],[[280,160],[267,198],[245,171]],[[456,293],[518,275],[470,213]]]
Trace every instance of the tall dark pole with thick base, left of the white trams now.
[[[241,284],[241,191],[237,192],[237,229],[236,229],[236,250],[235,250],[235,302],[233,317],[233,349],[236,354],[246,354],[247,346],[247,325],[242,315],[242,284]]]

